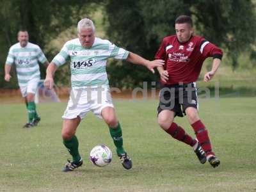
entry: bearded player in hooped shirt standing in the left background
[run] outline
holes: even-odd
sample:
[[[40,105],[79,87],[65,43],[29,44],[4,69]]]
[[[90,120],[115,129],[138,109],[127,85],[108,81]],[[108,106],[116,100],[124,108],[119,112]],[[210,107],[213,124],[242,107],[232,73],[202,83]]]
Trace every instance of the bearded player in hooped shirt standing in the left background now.
[[[40,70],[38,61],[44,63],[45,67],[49,62],[38,45],[28,42],[28,31],[20,30],[18,33],[18,43],[12,45],[8,52],[5,64],[5,81],[10,81],[10,70],[13,64],[16,72],[22,97],[28,109],[28,123],[24,127],[33,127],[40,121],[40,116],[36,113],[35,93],[40,81]]]

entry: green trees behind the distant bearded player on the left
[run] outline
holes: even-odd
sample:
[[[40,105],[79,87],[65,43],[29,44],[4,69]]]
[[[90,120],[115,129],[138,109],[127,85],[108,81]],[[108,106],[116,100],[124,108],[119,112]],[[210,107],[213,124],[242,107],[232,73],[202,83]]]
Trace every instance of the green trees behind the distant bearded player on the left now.
[[[44,51],[47,59],[52,60],[53,56],[60,51],[47,49],[51,40],[54,40],[61,32],[70,26],[76,28],[77,21],[84,16],[88,16],[93,11],[95,4],[100,1],[40,1],[40,0],[0,0],[0,75],[4,77],[4,62],[11,45],[17,42],[17,32],[19,29],[26,29],[29,32],[29,42],[38,44]],[[63,42],[64,44],[64,42]],[[63,68],[62,72],[65,72]],[[61,71],[59,72],[61,74]],[[45,68],[41,68],[41,77],[45,76]],[[15,75],[10,83],[5,83],[3,78],[0,80],[1,87],[17,86]],[[57,79],[61,79],[57,77]],[[65,76],[63,83],[67,82]]]

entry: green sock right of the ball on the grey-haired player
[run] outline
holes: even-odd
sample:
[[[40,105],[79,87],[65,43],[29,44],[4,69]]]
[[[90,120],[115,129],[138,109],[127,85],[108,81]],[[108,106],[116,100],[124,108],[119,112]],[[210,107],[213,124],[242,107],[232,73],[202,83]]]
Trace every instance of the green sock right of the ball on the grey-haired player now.
[[[119,122],[117,127],[109,127],[109,132],[116,146],[116,153],[118,155],[124,154],[125,150],[123,148],[122,129]]]

